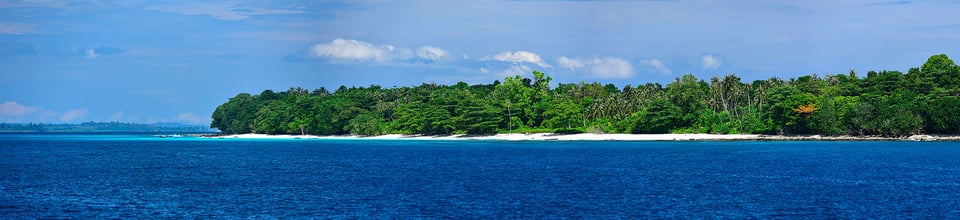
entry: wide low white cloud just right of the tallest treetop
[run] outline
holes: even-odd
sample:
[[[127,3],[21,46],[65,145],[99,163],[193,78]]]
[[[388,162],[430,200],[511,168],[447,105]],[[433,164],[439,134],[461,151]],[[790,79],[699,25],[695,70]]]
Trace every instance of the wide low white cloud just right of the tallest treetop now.
[[[629,78],[633,76],[633,65],[618,57],[557,58],[557,65],[571,71],[584,71],[600,78]]]

